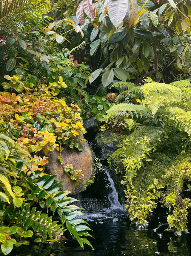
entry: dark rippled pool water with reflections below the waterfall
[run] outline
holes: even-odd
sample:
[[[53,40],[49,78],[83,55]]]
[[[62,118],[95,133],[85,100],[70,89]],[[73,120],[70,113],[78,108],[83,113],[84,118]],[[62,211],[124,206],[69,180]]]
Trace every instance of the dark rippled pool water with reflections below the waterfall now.
[[[82,250],[74,239],[54,244],[36,244],[36,247],[19,247],[14,256],[189,256],[190,234],[175,236],[173,232],[156,228],[153,222],[147,227],[131,225],[127,214],[120,211],[104,209],[92,212],[84,217],[93,232],[91,239],[94,250],[85,247]],[[31,244],[32,246],[32,244]],[[33,245],[34,246],[34,245]],[[38,248],[38,247],[39,248]],[[22,253],[21,253],[22,250]]]

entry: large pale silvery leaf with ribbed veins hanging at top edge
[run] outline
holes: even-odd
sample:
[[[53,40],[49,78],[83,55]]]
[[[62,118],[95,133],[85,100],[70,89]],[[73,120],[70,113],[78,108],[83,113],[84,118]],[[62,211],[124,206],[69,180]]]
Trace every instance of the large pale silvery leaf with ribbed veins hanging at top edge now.
[[[110,0],[108,3],[108,14],[116,29],[125,17],[128,5],[128,0]]]

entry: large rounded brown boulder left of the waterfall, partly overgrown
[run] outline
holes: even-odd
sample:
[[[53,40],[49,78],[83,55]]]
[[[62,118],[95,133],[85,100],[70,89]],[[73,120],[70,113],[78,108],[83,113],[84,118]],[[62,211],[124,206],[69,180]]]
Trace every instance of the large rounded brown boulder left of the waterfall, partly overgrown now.
[[[79,136],[83,138],[81,132]],[[84,176],[81,177],[81,180],[78,179],[78,181],[73,181],[70,176],[64,172],[62,165],[57,159],[57,157],[60,156],[59,151],[54,150],[49,153],[49,162],[46,165],[49,174],[57,175],[57,182],[64,181],[61,189],[72,191],[75,194],[85,190],[88,184],[93,183],[93,153],[87,141],[81,143],[81,147],[82,152],[79,152],[76,148],[71,149],[69,147],[64,147],[61,153],[64,165],[71,164],[73,165],[74,170],[83,170],[82,173]]]

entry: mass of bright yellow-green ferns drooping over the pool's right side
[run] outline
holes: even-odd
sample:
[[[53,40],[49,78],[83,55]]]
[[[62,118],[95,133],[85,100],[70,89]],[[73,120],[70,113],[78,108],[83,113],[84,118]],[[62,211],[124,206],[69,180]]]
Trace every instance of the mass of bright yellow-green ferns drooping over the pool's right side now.
[[[187,226],[190,207],[185,197],[190,190],[190,82],[145,82],[138,89],[141,105],[121,103],[107,111],[106,120],[112,115],[136,120],[138,109],[143,110],[139,115],[148,116],[118,145],[110,164],[123,176],[131,220],[147,222],[157,202],[163,201],[170,228],[180,233]]]

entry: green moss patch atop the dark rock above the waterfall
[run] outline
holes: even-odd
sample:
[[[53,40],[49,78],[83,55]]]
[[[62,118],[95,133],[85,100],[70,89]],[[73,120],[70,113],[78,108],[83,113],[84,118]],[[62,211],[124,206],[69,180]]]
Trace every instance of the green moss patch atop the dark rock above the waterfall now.
[[[100,132],[96,135],[96,142],[99,146],[115,142],[120,143],[124,138],[127,137],[127,133],[111,133],[108,131]]]

